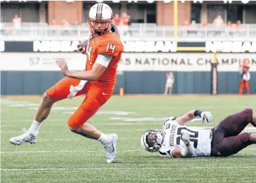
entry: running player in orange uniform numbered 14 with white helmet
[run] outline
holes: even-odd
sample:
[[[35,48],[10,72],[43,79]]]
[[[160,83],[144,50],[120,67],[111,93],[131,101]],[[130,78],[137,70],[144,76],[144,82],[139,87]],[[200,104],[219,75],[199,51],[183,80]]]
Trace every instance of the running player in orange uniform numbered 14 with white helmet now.
[[[55,102],[86,94],[82,104],[68,119],[68,126],[74,133],[101,142],[106,150],[107,162],[113,162],[118,135],[101,133],[94,126],[86,124],[111,97],[116,83],[116,70],[123,46],[118,31],[111,25],[112,19],[112,10],[107,4],[97,3],[92,6],[88,19],[91,36],[86,46],[86,69],[73,72],[68,70],[64,60],[57,60],[56,64],[66,77],[46,90],[31,127],[24,134],[12,137],[10,143],[35,143],[39,127]]]

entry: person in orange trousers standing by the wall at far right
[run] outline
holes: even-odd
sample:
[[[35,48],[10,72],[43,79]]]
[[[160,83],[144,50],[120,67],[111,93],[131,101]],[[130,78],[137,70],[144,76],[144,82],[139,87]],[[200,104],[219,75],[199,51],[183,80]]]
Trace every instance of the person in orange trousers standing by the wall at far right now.
[[[244,87],[246,88],[246,94],[249,94],[249,81],[250,81],[249,68],[250,66],[249,66],[248,59],[244,59],[243,64],[239,66],[239,73],[241,74],[239,94],[243,94]]]

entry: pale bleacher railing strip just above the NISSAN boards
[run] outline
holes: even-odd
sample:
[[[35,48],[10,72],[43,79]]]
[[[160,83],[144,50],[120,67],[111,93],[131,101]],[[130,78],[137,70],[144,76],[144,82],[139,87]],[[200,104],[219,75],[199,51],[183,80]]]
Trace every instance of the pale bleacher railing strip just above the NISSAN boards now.
[[[125,40],[172,40],[174,39],[174,26],[157,26],[155,23],[132,23],[131,26],[119,26],[118,30]],[[49,26],[47,23],[22,23],[15,27],[12,23],[0,23],[1,40],[70,40],[86,39],[89,37],[89,28],[86,23],[81,26]],[[208,24],[201,27],[178,27],[179,41],[214,41],[256,40],[256,24],[241,24],[237,27],[214,27]]]

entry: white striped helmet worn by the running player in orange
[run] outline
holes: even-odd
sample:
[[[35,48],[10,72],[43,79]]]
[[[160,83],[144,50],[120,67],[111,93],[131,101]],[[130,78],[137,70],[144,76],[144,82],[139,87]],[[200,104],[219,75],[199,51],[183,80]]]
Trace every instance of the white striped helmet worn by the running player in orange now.
[[[92,35],[104,35],[111,30],[113,13],[105,3],[96,3],[89,11],[89,30]]]

